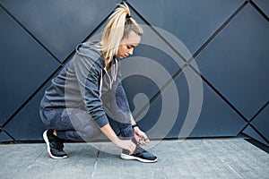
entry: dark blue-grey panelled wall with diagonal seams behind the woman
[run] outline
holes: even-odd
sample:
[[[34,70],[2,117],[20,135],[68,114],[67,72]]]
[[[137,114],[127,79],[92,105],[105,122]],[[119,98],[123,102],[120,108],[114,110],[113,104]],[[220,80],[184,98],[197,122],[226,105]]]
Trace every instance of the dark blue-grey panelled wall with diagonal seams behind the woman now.
[[[120,2],[0,0],[0,141],[42,140],[39,101],[44,90],[72,57],[74,47],[100,32]],[[166,78],[152,67],[147,70],[159,84],[143,74],[124,79],[141,128],[152,138],[186,137],[179,133],[192,113],[189,81],[202,80],[203,106],[187,137],[245,133],[269,146],[268,1],[129,0],[127,4],[134,19],[153,27],[144,34],[152,45],[142,43],[134,57],[152,59],[171,76]],[[173,34],[189,54],[157,28]],[[166,50],[159,49],[160,44]],[[124,72],[143,69],[130,62],[123,61]],[[175,110],[162,116],[163,104],[173,109],[177,98],[176,117]],[[159,121],[167,132],[152,130]]]

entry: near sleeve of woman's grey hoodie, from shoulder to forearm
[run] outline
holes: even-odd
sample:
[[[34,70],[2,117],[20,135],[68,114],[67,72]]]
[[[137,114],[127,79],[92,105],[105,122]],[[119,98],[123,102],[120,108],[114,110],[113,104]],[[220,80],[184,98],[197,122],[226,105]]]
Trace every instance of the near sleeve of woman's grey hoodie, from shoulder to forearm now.
[[[97,59],[96,59],[97,60]],[[108,117],[100,99],[101,68],[89,56],[74,57],[74,73],[81,91],[84,106],[92,119],[101,127],[108,124]]]

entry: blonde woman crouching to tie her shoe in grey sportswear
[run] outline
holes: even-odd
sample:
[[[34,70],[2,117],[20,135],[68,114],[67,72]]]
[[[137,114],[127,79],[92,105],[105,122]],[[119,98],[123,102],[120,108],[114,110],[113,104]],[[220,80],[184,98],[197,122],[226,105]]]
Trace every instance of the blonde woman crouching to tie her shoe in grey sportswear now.
[[[155,162],[142,149],[150,141],[130,113],[120,78],[117,58],[132,55],[143,35],[126,4],[110,16],[100,42],[76,47],[73,59],[52,80],[40,102],[40,117],[48,130],[43,133],[51,158],[67,158],[64,141],[93,141],[104,133],[117,148],[120,158]],[[117,124],[121,138],[109,124]]]

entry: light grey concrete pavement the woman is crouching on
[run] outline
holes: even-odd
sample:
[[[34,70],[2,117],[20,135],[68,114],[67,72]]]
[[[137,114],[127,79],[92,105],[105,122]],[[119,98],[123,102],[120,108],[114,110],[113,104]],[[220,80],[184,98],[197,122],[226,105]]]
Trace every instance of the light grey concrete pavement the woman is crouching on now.
[[[152,141],[159,161],[118,157],[110,142],[66,143],[66,159],[48,158],[45,143],[0,145],[0,178],[269,178],[269,155],[243,139]]]

